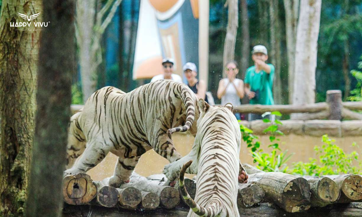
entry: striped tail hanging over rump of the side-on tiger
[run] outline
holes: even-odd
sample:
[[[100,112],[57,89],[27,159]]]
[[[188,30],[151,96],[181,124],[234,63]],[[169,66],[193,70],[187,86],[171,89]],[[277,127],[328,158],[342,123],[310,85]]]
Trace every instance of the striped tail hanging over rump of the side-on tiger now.
[[[167,131],[168,137],[171,139],[171,134],[174,132],[186,132],[191,128],[192,123],[195,119],[195,101],[194,97],[190,89],[188,89],[188,86],[182,85],[181,90],[178,93],[179,97],[182,99],[182,102],[185,105],[186,109],[186,122],[184,126],[180,127],[174,127]]]

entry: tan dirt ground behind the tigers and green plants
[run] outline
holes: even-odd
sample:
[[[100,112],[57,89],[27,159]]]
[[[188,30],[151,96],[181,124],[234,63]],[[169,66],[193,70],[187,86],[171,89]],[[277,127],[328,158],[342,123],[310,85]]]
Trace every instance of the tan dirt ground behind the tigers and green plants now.
[[[264,150],[268,150],[269,136],[259,136],[261,144],[263,145]],[[315,145],[321,146],[321,137],[313,137],[313,136],[298,136],[298,135],[287,135],[279,137],[281,142],[279,143],[282,150],[289,150],[289,153],[295,153],[294,156],[289,161],[289,165],[292,162],[296,161],[308,161],[310,157],[316,157],[315,152],[313,150]],[[172,139],[175,143],[176,149],[182,156],[185,156],[191,150],[192,144],[194,142],[193,136],[190,134],[181,134],[174,133],[172,135]],[[342,137],[342,138],[334,138],[336,139],[336,144],[344,149],[346,153],[350,153],[353,150],[361,153],[362,147],[362,136],[359,137]],[[352,148],[352,142],[357,142],[357,145]],[[252,157],[249,153],[249,150],[246,150],[246,145],[244,142],[241,144],[240,150],[240,160],[241,162],[252,164]],[[114,166],[117,162],[117,157],[109,153],[108,156],[96,167],[88,171],[88,174],[94,181],[102,180],[106,177],[113,175]],[[159,156],[153,150],[149,150],[144,153],[139,160],[138,165],[136,166],[136,173],[148,176],[152,174],[162,173],[164,165],[166,165],[168,161]],[[188,175],[191,178],[193,175]]]

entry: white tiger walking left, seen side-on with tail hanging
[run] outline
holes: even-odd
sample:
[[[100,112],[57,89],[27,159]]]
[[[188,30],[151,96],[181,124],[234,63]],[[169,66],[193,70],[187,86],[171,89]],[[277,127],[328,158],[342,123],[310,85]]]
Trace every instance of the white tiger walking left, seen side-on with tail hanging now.
[[[97,90],[71,117],[64,173],[86,172],[111,152],[118,162],[109,184],[119,186],[151,148],[169,162],[180,159],[171,133],[189,129],[196,133],[196,103],[187,85],[172,80],[152,82],[129,93],[111,86]]]

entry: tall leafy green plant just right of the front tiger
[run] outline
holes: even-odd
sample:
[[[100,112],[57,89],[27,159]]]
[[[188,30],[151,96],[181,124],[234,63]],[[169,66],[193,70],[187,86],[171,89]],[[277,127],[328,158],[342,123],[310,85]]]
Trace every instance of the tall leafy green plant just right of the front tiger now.
[[[278,111],[266,112],[263,114],[263,116],[266,115],[276,115],[279,117],[282,116],[282,114]],[[259,141],[254,141],[257,140],[258,137],[252,135],[253,131],[251,129],[240,125],[240,131],[243,140],[247,143],[247,147],[251,148],[250,152],[254,159],[254,163],[258,163],[256,166],[258,169],[266,172],[281,171],[286,173],[288,170],[286,162],[289,161],[293,154],[288,155],[288,150],[282,152],[282,150],[279,148],[278,141],[280,141],[280,139],[278,139],[276,136],[284,135],[283,132],[278,130],[278,125],[282,125],[282,122],[280,122],[278,119],[276,119],[274,122],[270,121],[269,119],[263,119],[263,122],[271,123],[271,125],[264,130],[265,133],[270,134],[269,140],[271,144],[268,146],[268,148],[272,148],[270,153],[264,152],[264,150],[260,148]]]

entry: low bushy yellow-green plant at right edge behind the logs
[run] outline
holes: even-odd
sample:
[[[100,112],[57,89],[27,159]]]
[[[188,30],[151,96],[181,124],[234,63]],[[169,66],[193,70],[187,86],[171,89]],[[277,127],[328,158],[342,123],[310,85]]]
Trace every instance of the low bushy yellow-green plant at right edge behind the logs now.
[[[319,163],[317,160],[310,158],[307,163],[293,163],[292,174],[298,175],[337,175],[337,174],[362,174],[362,161],[358,159],[357,152],[346,154],[342,148],[334,144],[335,140],[329,139],[328,135],[323,135],[322,147],[315,146],[314,151],[319,155]],[[352,144],[355,146],[355,143]],[[353,162],[358,163],[358,167],[353,166]]]

